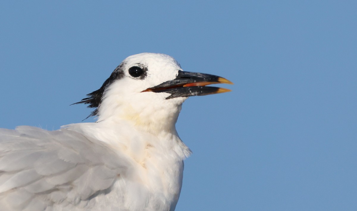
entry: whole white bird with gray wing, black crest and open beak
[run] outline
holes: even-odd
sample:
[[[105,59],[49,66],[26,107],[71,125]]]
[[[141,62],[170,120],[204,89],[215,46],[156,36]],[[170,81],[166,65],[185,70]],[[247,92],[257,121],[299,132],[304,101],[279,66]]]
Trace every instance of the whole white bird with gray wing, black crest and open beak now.
[[[188,96],[230,91],[214,83],[232,84],[140,53],[78,102],[95,123],[0,129],[0,210],[174,211],[191,154],[175,123]]]

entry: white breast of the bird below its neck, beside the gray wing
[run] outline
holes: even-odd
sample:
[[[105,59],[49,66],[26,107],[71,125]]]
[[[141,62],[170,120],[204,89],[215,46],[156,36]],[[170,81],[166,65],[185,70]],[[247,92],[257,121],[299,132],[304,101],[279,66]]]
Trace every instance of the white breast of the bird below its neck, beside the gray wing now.
[[[110,192],[94,197],[88,206],[92,210],[103,210],[108,206],[114,210],[174,210],[182,186],[183,160],[191,151],[176,134],[152,135],[126,122],[108,124],[68,126],[110,144],[132,163],[126,174],[118,175]]]

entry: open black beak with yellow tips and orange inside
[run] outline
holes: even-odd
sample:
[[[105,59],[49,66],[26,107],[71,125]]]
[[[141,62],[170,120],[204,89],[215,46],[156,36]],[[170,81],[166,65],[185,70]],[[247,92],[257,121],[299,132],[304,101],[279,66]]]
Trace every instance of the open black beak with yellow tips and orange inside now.
[[[231,91],[230,89],[219,87],[206,87],[206,85],[216,83],[233,84],[227,79],[219,76],[179,70],[178,75],[174,80],[166,81],[155,87],[145,89],[142,92],[166,92],[171,94],[166,99],[170,99],[175,97],[201,96]]]

